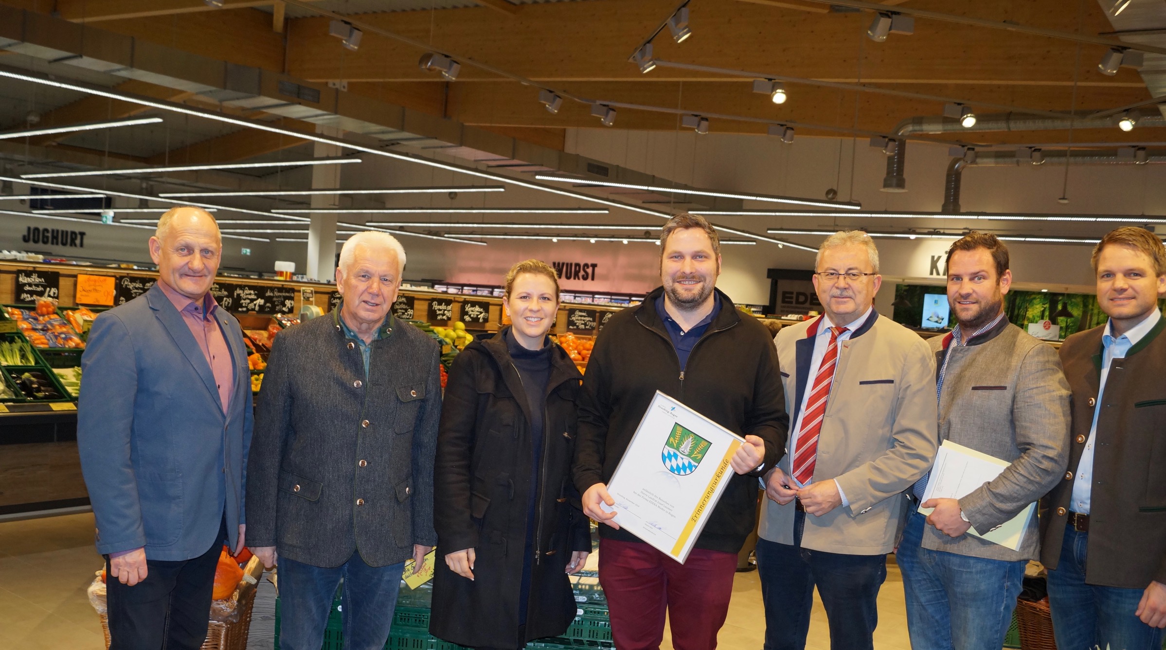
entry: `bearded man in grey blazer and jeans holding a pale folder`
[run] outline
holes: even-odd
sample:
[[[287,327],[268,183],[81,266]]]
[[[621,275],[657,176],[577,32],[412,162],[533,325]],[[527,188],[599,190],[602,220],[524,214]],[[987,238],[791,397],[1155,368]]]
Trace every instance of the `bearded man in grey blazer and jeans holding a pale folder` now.
[[[925,476],[895,553],[914,650],[999,650],[1027,560],[1039,552],[1035,513],[1019,550],[988,532],[1062,480],[1069,457],[1069,386],[1053,346],[1004,315],[1012,282],[1009,250],[969,233],[948,249],[948,302],[958,325],[928,342],[937,368],[940,440],[1011,465],[961,499],[930,499],[918,511]]]

